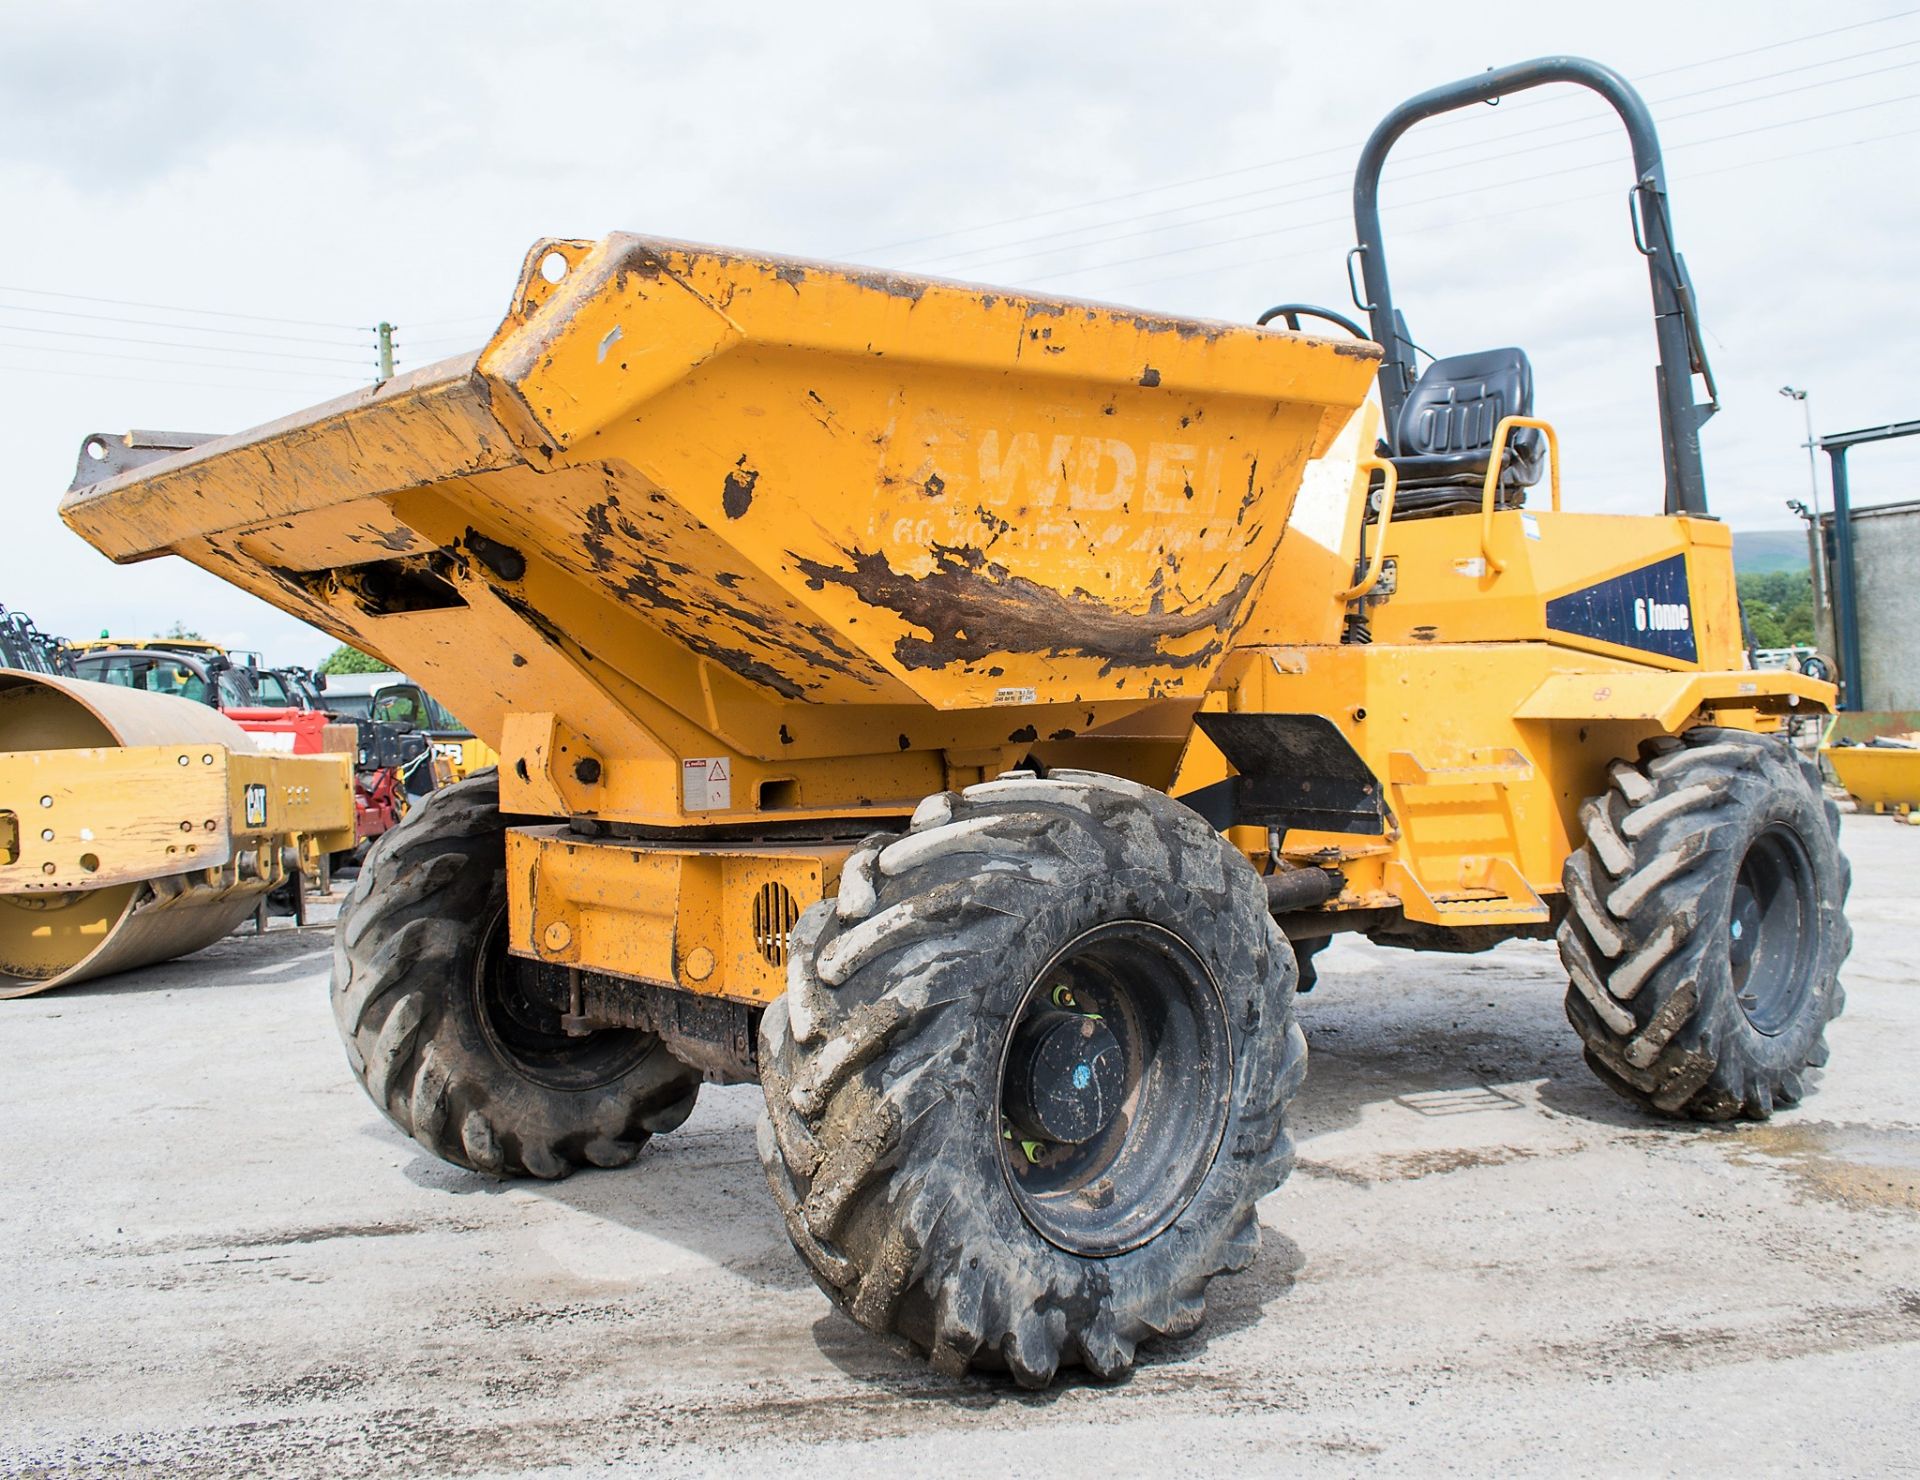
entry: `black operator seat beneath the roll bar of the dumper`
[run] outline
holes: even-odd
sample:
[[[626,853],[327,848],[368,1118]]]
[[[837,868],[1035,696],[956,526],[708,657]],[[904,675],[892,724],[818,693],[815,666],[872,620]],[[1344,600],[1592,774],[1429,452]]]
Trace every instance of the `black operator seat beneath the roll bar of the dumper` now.
[[[1480,349],[1436,359],[1407,392],[1394,445],[1380,451],[1400,472],[1396,513],[1455,513],[1480,503],[1494,428],[1501,417],[1534,415],[1534,367],[1523,349]],[[1517,426],[1500,457],[1501,507],[1524,503],[1540,482],[1546,438]],[[1411,497],[1409,497],[1411,495]]]

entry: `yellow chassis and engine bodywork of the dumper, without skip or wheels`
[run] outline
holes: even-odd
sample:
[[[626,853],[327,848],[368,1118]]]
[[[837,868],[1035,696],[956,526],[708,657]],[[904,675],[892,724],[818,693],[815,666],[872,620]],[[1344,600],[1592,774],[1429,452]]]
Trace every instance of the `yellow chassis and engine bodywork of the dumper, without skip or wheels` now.
[[[1542,511],[1404,524],[1390,528],[1375,562],[1394,572],[1392,593],[1356,601],[1332,580],[1352,568],[1357,524],[1348,536],[1317,589],[1269,593],[1248,624],[1252,639],[1288,632],[1321,641],[1236,647],[1198,704],[1162,704],[1071,741],[1021,745],[998,764],[1031,754],[1194,799],[1233,776],[1204,733],[1208,714],[1325,716],[1379,787],[1382,825],[1357,835],[1283,829],[1279,854],[1265,827],[1227,829],[1263,871],[1338,871],[1323,918],[1290,923],[1306,933],[1371,929],[1388,912],[1415,925],[1524,931],[1551,921],[1561,868],[1584,841],[1578,808],[1607,787],[1613,760],[1699,724],[1776,729],[1788,716],[1832,708],[1834,691],[1818,680],[1740,666],[1732,541],[1711,520]],[[1311,549],[1296,553],[1296,562],[1308,559]],[[1695,593],[1692,660],[1549,626],[1549,603],[1565,591],[1659,561],[1680,561]],[[1338,641],[1342,620],[1361,607],[1375,641]],[[1465,641],[1440,639],[1455,633]],[[515,716],[503,754],[507,791],[549,816],[591,812],[595,785],[582,776],[620,764],[551,714]],[[899,827],[922,793],[977,781],[995,758],[947,754],[933,776],[920,756],[874,760],[866,791],[899,800],[843,816]],[[672,835],[607,841],[566,827],[518,829],[509,854],[513,948],[764,1004],[783,987],[785,958],[755,948],[762,891],[776,885],[797,908],[829,898],[847,852],[843,843],[689,847]]]

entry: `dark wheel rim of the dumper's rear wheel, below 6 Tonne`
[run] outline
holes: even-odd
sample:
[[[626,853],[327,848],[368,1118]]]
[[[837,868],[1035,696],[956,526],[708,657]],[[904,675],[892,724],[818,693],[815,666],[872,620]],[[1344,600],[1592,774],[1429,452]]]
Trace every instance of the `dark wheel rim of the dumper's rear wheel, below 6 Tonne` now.
[[[1747,847],[1726,933],[1734,1000],[1757,1033],[1776,1037],[1807,1002],[1814,975],[1812,860],[1791,827],[1772,824]]]

